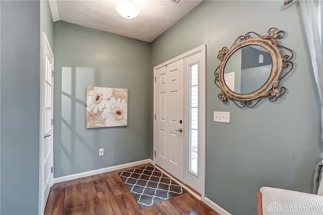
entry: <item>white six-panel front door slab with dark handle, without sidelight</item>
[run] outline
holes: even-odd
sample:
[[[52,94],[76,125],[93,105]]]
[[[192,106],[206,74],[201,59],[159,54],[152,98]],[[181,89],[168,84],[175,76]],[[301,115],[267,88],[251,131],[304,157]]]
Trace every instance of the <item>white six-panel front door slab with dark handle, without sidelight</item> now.
[[[156,69],[155,164],[184,181],[184,59]]]

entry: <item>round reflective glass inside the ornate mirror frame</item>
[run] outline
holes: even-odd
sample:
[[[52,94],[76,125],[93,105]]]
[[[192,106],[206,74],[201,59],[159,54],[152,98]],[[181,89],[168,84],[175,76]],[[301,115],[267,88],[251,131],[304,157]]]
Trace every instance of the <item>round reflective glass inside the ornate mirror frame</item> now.
[[[272,58],[258,45],[244,46],[234,52],[224,68],[227,87],[237,94],[249,94],[261,88],[272,71]]]

